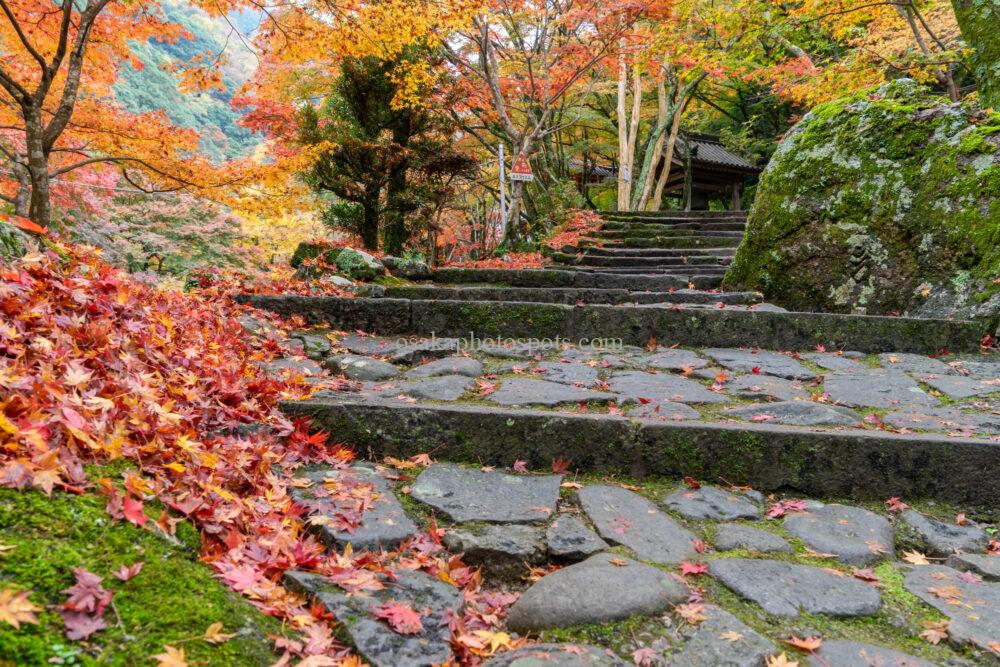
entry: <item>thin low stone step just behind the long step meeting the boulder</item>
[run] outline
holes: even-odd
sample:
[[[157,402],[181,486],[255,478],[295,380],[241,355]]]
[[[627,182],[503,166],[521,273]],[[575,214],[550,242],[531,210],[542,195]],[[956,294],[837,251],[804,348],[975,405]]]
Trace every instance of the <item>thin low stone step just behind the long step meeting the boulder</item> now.
[[[697,303],[753,304],[761,300],[758,292],[710,292],[678,289],[660,292],[632,292],[627,289],[586,287],[424,287],[386,288],[392,299],[439,299],[449,301],[528,301],[536,303],[623,304],[623,303]]]

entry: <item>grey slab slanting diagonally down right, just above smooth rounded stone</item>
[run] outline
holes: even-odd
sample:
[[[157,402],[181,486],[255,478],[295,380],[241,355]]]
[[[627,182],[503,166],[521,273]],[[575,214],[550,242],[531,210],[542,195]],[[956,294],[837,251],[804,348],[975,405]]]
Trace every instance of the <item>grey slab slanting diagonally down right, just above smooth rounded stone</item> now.
[[[677,564],[695,556],[697,538],[642,496],[610,484],[587,486],[577,495],[600,536],[641,560]]]

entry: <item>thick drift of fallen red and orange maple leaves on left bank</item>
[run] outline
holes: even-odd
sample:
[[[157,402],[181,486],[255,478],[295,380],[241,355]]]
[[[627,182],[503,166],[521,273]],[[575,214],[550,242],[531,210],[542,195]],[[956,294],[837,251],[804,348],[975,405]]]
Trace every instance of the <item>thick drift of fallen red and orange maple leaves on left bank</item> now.
[[[475,662],[496,650],[492,628],[511,600],[480,593],[478,573],[447,554],[439,531],[395,554],[327,552],[306,533],[306,510],[289,495],[295,469],[346,466],[353,454],[278,411],[280,399],[314,390],[300,376],[262,370],[289,352],[280,328],[301,323],[271,317],[272,327],[248,335],[238,319],[248,309],[231,298],[254,291],[247,288],[236,279],[206,281],[190,294],[160,291],[93,250],[58,242],[0,264],[0,485],[101,493],[111,517],[166,534],[192,521],[218,576],[301,631],[301,641],[276,640],[287,660],[353,659],[334,640],[330,615],[280,585],[292,568],[336,575],[356,591],[380,587],[375,575],[389,568],[439,576],[465,588],[466,612],[453,621],[456,654]],[[121,458],[134,462],[121,479],[88,482],[85,463]],[[154,498],[172,511],[149,514]],[[96,632],[98,604],[62,611],[87,615],[73,617],[76,632]]]

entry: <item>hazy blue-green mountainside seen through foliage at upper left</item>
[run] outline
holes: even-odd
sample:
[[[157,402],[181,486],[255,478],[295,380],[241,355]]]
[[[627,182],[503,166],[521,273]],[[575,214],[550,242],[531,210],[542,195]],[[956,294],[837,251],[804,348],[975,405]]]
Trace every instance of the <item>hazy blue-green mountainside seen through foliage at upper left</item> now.
[[[213,160],[250,153],[260,139],[237,125],[239,113],[229,106],[229,102],[256,67],[255,57],[243,45],[240,35],[245,37],[257,28],[259,15],[243,12],[233,14],[227,21],[212,18],[175,0],[164,2],[162,7],[167,18],[183,25],[194,39],[180,40],[176,44],[150,41],[137,46],[136,53],[145,67],[141,70],[125,68],[115,86],[116,97],[131,112],[162,109],[174,124],[198,130],[202,135],[202,150]],[[181,93],[177,90],[176,79],[160,68],[163,62],[186,61],[196,53],[223,50],[226,54],[225,92]]]

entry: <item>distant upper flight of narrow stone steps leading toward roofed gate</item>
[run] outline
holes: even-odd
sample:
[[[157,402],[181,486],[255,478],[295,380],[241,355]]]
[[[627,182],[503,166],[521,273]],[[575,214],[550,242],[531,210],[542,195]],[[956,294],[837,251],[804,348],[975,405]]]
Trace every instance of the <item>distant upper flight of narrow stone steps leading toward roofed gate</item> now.
[[[741,211],[609,211],[602,217],[599,231],[553,253],[553,262],[591,273],[676,276],[715,288],[746,226]]]

